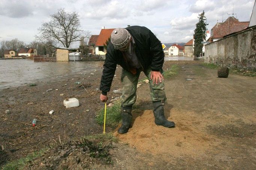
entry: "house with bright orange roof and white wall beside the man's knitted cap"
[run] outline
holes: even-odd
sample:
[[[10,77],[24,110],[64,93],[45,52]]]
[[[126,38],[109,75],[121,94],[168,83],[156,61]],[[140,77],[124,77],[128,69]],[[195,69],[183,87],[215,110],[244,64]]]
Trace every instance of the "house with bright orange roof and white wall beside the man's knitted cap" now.
[[[106,54],[107,49],[105,49],[104,44],[110,37],[113,30],[114,30],[114,28],[105,29],[105,27],[102,27],[101,32],[99,33],[99,36],[95,43],[95,54],[96,55],[105,55]]]

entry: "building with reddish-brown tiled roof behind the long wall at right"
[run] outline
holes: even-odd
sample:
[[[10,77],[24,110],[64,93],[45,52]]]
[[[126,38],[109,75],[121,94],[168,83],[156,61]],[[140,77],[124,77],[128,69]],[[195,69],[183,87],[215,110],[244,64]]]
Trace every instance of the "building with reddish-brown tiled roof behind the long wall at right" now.
[[[240,22],[233,16],[230,16],[224,22],[218,22],[211,29],[211,37],[207,41],[213,42],[223,38],[225,35],[244,30],[249,26],[249,21]]]

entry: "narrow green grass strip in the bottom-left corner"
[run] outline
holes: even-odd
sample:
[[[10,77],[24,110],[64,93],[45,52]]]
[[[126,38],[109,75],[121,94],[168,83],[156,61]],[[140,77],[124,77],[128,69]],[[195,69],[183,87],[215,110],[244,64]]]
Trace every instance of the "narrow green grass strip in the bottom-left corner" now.
[[[35,151],[32,154],[27,155],[24,158],[20,158],[15,161],[11,161],[4,166],[2,166],[2,170],[18,170],[18,169],[23,169],[24,166],[26,166],[27,163],[35,160],[38,157],[41,157],[45,151],[47,151],[48,148],[41,149],[39,151]]]

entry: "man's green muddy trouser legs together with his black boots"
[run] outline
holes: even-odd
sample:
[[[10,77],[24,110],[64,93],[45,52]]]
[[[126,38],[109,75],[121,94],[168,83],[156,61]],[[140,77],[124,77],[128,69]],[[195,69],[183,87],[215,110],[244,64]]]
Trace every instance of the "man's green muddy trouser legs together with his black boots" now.
[[[149,67],[144,71],[145,75],[148,77],[150,86],[150,95],[154,107],[155,123],[157,125],[162,125],[164,127],[174,127],[174,122],[166,120],[164,117],[163,103],[166,100],[166,95],[164,92],[164,81],[162,83],[153,84],[151,77],[151,68]],[[163,73],[163,70],[161,70]],[[123,84],[123,93],[121,96],[122,102],[122,126],[119,128],[118,133],[127,133],[128,129],[131,127],[131,108],[136,102],[137,95],[137,84],[140,76],[140,70],[134,75],[125,69],[122,70],[121,81]],[[128,126],[129,125],[129,126]]]

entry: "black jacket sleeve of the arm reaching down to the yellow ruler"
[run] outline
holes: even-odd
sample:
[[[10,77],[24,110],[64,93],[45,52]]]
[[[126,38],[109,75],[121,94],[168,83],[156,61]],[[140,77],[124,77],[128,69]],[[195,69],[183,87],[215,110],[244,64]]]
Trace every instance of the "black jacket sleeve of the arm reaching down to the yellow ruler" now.
[[[99,89],[102,91],[102,95],[107,95],[107,92],[110,91],[114,73],[116,71],[116,61],[113,59],[113,55],[106,54],[103,67]]]

